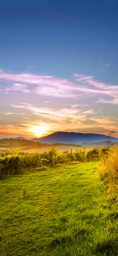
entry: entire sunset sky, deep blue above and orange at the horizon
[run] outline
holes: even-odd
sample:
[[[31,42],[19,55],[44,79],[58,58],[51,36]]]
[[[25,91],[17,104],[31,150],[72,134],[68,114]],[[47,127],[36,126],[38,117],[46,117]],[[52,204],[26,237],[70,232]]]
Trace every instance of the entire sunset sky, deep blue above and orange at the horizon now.
[[[0,1],[0,138],[118,138],[118,0]]]

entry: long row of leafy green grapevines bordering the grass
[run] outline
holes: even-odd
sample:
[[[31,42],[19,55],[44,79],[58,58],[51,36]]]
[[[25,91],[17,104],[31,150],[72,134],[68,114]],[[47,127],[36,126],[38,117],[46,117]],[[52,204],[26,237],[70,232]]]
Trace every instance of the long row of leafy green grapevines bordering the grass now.
[[[37,153],[19,153],[19,149],[16,153],[11,155],[0,157],[0,179],[7,177],[8,174],[19,174],[27,170],[32,170],[36,167],[42,166],[55,166],[56,164],[70,163],[70,162],[89,162],[99,161],[104,156],[107,156],[110,149],[94,148],[89,151],[83,151],[77,149],[75,152],[65,151],[63,154],[59,154],[55,147],[51,150],[44,151],[42,154]]]

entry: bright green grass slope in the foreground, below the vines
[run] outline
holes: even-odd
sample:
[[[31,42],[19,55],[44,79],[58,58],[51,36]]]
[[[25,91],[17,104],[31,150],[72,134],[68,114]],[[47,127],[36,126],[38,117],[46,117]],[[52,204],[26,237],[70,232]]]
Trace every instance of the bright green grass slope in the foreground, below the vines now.
[[[0,256],[118,256],[118,211],[98,164],[1,180]]]

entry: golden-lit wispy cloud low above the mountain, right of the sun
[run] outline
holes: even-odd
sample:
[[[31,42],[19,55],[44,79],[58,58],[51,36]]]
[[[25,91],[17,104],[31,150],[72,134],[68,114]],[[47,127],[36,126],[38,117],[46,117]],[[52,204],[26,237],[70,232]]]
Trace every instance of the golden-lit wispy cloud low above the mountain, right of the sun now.
[[[82,130],[85,132],[93,132],[93,128],[99,132],[103,128],[104,134],[106,131],[117,130],[117,119],[114,117],[104,117],[98,116],[99,110],[94,111],[94,109],[82,110],[78,106],[69,108],[48,108],[48,107],[38,107],[36,105],[31,105],[28,103],[22,103],[20,105],[12,104],[14,108],[24,108],[29,110],[34,116],[35,121],[26,119],[27,126],[33,127],[42,123],[43,126],[50,126],[50,130],[55,132],[57,130],[74,130],[79,132]],[[31,123],[33,122],[33,125]],[[29,124],[29,125],[28,125]],[[68,128],[67,128],[68,126]],[[48,130],[48,128],[47,128]]]

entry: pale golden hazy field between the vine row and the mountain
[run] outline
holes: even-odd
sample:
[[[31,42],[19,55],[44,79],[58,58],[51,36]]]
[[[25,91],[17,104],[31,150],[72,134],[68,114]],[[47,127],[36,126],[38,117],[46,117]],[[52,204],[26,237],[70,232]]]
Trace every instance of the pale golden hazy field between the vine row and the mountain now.
[[[46,150],[51,150],[52,146],[44,146],[44,147],[40,147],[40,148],[33,148],[33,149],[26,149],[26,150],[22,150],[24,152],[28,152],[31,153],[31,151],[33,151],[34,153],[43,153]],[[56,146],[56,149],[58,149],[59,153],[63,153],[64,151],[76,151],[76,149],[81,149],[84,150],[84,147],[76,147],[76,146],[68,146],[68,145],[60,145],[60,146]],[[91,147],[86,147],[86,150],[90,150],[93,149]]]

